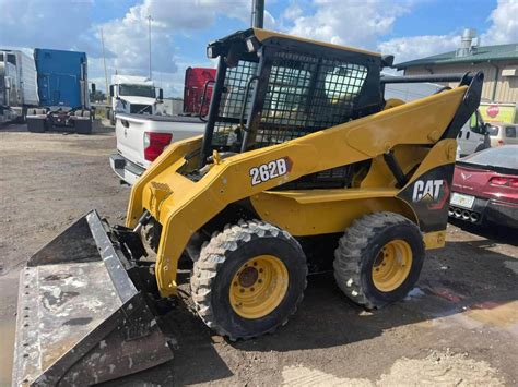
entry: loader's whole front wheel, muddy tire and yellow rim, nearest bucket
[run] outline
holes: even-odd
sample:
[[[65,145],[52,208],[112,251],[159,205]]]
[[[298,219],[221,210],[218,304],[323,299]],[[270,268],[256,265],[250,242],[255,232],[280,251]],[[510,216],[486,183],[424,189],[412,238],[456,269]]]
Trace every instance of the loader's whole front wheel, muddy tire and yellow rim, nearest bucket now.
[[[231,339],[272,332],[295,313],[306,288],[298,242],[272,225],[243,221],[213,235],[191,277],[203,322]]]

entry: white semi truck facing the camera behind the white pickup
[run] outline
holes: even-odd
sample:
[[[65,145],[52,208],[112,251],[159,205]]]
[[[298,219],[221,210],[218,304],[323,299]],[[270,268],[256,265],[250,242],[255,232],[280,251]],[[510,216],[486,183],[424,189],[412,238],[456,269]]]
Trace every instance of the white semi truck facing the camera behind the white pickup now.
[[[162,88],[145,76],[113,75],[109,86],[111,97],[110,121],[115,125],[118,113],[152,114],[165,113]]]

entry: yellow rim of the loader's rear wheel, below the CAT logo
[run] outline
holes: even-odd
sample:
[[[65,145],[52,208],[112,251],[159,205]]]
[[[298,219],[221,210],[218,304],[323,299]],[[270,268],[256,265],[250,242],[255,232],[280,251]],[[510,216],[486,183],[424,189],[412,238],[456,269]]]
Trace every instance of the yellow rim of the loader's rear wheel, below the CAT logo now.
[[[401,286],[412,267],[412,249],[400,239],[388,242],[379,251],[373,265],[374,286],[382,292]]]

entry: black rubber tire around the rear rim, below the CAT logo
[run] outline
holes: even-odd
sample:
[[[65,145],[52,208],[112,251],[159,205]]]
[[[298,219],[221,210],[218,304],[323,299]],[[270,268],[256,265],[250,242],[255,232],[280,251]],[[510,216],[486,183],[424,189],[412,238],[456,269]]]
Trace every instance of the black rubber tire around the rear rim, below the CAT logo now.
[[[373,265],[381,247],[391,240],[403,240],[412,250],[407,279],[395,290],[382,292],[373,282]],[[425,249],[419,227],[395,213],[376,213],[355,220],[334,251],[334,279],[353,302],[367,309],[381,307],[407,297],[417,282]]]

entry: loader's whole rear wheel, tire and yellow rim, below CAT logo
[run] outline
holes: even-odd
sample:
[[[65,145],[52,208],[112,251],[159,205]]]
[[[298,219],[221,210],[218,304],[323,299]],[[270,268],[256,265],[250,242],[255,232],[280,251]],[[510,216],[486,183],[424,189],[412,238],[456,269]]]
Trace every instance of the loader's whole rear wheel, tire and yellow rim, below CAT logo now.
[[[346,230],[334,252],[334,278],[354,302],[380,307],[403,299],[421,274],[420,229],[393,213],[366,215]]]

